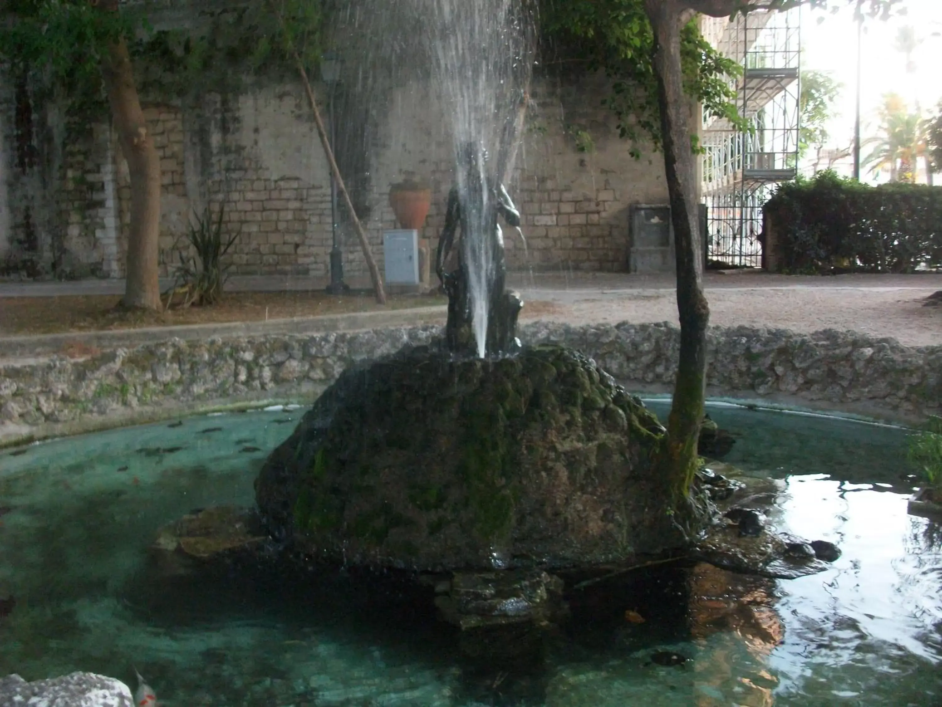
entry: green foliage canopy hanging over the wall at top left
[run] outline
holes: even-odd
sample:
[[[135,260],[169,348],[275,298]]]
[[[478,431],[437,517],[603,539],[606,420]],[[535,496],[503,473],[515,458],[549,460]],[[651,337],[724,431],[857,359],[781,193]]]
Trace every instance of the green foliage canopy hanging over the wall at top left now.
[[[155,31],[144,11],[103,11],[89,0],[9,0],[0,12],[0,59],[12,74],[68,101],[67,112],[105,109],[101,66],[125,39],[138,88],[161,98],[236,90],[244,74],[295,71],[295,53],[317,67],[324,10],[319,0],[251,0],[201,13],[194,30]]]

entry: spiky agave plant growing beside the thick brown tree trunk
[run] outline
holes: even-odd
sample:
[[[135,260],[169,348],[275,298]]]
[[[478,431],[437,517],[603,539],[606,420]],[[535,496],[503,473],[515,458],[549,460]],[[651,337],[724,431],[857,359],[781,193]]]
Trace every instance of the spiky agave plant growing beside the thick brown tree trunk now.
[[[219,205],[219,213],[213,218],[209,206],[203,214],[194,211],[187,230],[187,253],[177,248],[180,264],[174,271],[174,284],[168,293],[167,307],[171,306],[176,294],[183,296],[179,306],[190,304],[213,304],[219,300],[222,288],[229,279],[229,266],[222,262],[222,257],[229,252],[238,238],[238,233],[226,237],[222,229],[224,207]]]

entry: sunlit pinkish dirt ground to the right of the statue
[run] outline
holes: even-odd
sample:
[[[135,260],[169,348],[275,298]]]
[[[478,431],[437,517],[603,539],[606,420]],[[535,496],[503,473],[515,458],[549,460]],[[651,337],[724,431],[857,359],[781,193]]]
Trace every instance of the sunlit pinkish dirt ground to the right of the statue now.
[[[708,288],[710,323],[811,333],[852,330],[908,346],[942,345],[942,305],[924,306],[934,288]],[[525,295],[528,293],[524,292]],[[674,292],[598,291],[575,298],[532,291],[527,319],[572,322],[677,322]],[[561,296],[560,296],[561,295]],[[538,299],[543,298],[543,299]]]

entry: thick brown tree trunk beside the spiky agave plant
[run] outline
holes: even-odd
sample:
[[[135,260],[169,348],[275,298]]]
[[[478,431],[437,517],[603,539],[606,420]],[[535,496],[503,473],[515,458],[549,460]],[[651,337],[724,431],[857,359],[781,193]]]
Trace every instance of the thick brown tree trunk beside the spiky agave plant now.
[[[117,0],[102,3],[117,11]],[[145,309],[160,308],[157,252],[160,236],[160,157],[154,137],[144,120],[131,57],[122,38],[108,46],[102,60],[102,78],[111,106],[111,117],[131,177],[131,223],[127,238],[126,285],[122,304]]]

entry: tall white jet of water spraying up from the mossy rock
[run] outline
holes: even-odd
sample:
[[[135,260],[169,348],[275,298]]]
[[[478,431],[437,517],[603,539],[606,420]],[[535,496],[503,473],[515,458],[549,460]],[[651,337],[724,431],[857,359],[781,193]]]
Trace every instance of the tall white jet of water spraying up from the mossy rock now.
[[[529,82],[527,17],[514,0],[414,2],[427,23],[434,83],[442,90],[455,155],[463,165],[455,175],[463,211],[462,256],[483,357],[495,282],[494,190],[511,170],[515,117]]]

